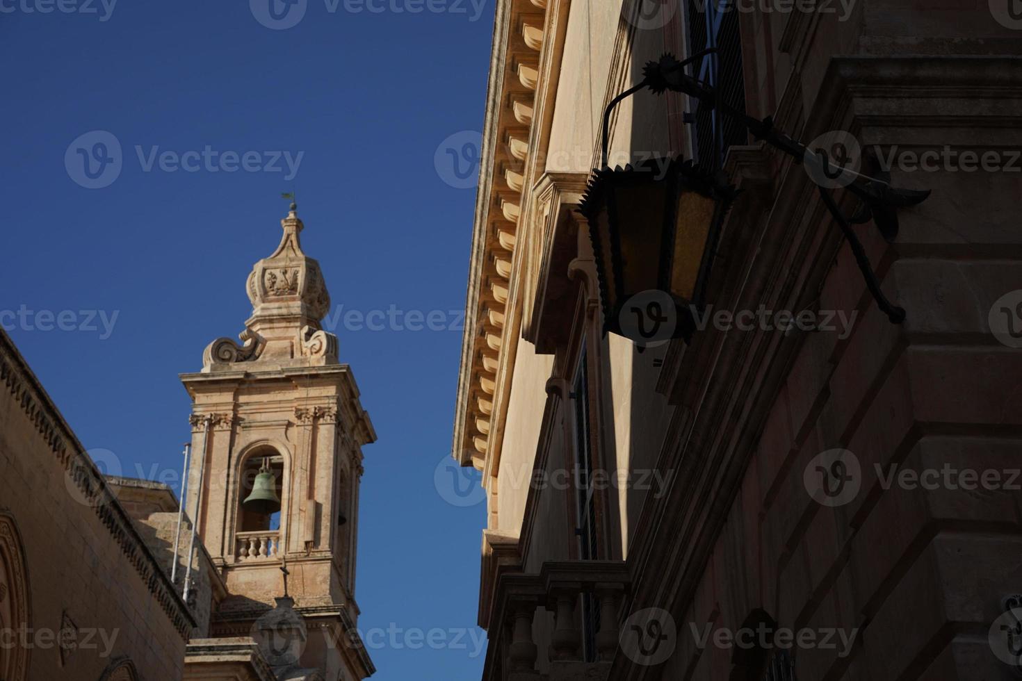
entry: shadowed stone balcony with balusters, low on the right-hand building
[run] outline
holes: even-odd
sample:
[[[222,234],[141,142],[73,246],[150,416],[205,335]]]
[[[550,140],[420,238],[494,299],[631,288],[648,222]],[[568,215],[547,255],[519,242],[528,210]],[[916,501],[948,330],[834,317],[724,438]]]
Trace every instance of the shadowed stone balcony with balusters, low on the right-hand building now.
[[[501,574],[490,610],[483,681],[607,679],[629,583],[628,569],[617,561],[547,562],[539,574]],[[592,604],[597,624],[587,641],[583,640],[584,598]],[[540,641],[533,625],[551,616],[553,629]],[[547,643],[547,654],[541,660],[542,642]]]

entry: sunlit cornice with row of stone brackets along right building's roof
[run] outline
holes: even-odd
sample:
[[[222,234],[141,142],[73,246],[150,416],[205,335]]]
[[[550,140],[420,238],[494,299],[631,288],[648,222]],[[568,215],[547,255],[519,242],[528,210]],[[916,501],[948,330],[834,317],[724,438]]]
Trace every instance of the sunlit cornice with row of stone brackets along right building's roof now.
[[[466,295],[452,455],[482,470],[499,457],[501,404],[513,374],[570,0],[499,0]],[[491,466],[496,472],[496,469]]]

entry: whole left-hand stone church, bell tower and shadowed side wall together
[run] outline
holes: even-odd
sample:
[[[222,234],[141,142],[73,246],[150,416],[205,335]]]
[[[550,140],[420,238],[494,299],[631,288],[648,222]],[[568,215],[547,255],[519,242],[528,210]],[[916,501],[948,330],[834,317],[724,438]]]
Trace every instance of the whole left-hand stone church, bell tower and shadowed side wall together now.
[[[193,410],[180,527],[168,486],[102,475],[0,331],[0,680],[375,671],[355,582],[362,446],[376,434],[320,326],[329,295],[293,204],[281,224],[246,285],[242,342],[214,341],[181,377]],[[244,503],[264,467],[279,513]]]

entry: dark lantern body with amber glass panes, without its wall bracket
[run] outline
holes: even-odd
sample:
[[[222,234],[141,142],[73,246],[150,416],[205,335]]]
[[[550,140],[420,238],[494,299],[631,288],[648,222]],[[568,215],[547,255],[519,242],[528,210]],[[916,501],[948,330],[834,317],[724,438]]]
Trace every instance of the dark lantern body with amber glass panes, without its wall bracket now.
[[[589,221],[606,331],[640,346],[691,336],[734,195],[723,174],[682,157],[593,174],[579,210]]]

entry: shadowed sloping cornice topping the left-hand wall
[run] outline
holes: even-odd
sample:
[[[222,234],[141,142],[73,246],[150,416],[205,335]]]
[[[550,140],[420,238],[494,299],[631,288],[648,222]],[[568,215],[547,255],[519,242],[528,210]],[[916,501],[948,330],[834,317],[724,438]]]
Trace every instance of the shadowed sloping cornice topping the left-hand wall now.
[[[0,383],[49,446],[67,480],[75,483],[85,498],[98,500],[90,504],[92,512],[110,533],[181,638],[187,640],[189,632],[195,627],[194,618],[149,551],[131,517],[118,502],[103,475],[3,330],[0,330]]]

